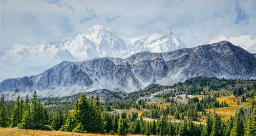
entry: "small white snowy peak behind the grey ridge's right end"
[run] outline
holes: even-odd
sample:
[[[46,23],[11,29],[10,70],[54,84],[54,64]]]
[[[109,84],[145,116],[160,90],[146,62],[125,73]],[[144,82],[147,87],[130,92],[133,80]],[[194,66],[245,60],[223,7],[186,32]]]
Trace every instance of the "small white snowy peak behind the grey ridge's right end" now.
[[[217,43],[220,41],[229,41],[234,45],[239,45],[240,47],[244,48],[250,53],[256,53],[256,39],[252,39],[251,36],[242,35],[239,37],[231,37],[227,38],[223,35],[215,38],[214,40],[210,41],[211,43]]]

